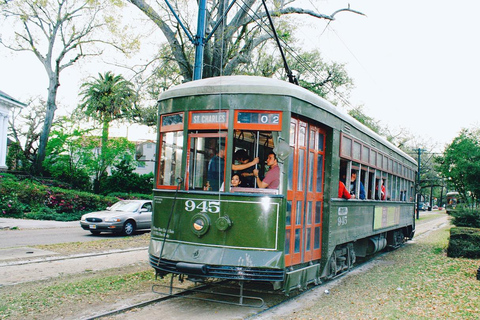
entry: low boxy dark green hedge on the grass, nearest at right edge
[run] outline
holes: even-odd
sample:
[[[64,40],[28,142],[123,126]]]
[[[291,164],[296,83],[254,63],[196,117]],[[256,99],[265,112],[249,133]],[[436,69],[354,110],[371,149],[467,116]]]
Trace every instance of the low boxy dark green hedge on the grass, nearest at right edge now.
[[[457,227],[450,229],[447,256],[480,258],[480,229]]]

